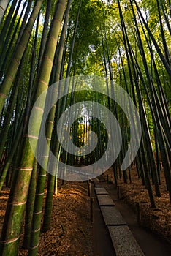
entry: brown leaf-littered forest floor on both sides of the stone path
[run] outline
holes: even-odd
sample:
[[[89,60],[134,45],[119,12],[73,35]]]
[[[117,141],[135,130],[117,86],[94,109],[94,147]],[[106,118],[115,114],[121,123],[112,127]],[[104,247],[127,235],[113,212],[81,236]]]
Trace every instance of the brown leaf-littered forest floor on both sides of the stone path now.
[[[107,180],[107,175],[108,184],[114,186],[112,168],[107,170],[99,179]],[[151,208],[148,192],[137,177],[135,168],[131,170],[131,176],[132,183],[128,181],[128,184],[124,184],[122,180],[119,180],[121,200],[132,206],[134,211],[136,211],[136,202],[139,202],[142,227],[147,227],[158,233],[159,236],[171,243],[171,207],[164,173],[161,172],[161,198],[155,197],[157,208]],[[9,189],[3,189],[0,194],[0,230],[8,196]],[[61,186],[61,181],[59,181],[58,195],[53,196],[51,228],[47,233],[41,233],[38,255],[94,255],[94,229],[92,227],[88,184],[86,182],[66,182],[64,186]],[[28,253],[27,250],[22,249],[22,242],[23,235],[20,238],[18,254],[20,256]]]

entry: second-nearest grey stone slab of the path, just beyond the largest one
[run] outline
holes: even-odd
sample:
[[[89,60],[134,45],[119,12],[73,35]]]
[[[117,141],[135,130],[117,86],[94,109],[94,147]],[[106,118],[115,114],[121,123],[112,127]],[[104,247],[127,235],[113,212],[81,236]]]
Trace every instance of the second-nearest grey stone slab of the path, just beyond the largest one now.
[[[126,225],[120,211],[115,206],[101,206],[100,208],[106,225]]]

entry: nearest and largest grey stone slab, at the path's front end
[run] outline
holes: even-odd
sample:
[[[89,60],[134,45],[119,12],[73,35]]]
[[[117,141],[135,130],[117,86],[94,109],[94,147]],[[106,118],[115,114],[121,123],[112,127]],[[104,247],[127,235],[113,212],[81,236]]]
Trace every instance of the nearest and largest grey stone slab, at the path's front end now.
[[[116,256],[145,256],[128,226],[108,226]]]

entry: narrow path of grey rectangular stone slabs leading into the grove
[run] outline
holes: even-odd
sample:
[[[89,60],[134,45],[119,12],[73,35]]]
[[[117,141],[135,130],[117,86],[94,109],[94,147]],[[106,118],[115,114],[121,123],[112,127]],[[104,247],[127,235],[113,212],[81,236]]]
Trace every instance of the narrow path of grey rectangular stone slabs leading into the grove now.
[[[144,256],[120,211],[115,208],[115,203],[108,195],[107,190],[102,185],[100,187],[98,181],[94,182],[94,186],[105,225],[107,225],[113,242],[115,254],[117,256]]]

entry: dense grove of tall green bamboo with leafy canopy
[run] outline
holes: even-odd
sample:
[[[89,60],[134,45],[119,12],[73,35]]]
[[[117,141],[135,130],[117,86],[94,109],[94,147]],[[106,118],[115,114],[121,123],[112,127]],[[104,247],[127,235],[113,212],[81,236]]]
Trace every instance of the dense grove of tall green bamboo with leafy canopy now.
[[[164,172],[171,201],[170,15],[169,0],[0,0],[0,184],[1,189],[10,188],[1,255],[18,255],[23,223],[23,247],[28,255],[37,255],[40,232],[50,229],[58,178],[37,163],[29,141],[37,145],[34,135],[39,132],[47,104],[44,100],[42,107],[36,108],[34,102],[48,86],[64,78],[99,75],[108,79],[108,90],[117,83],[130,95],[142,125],[142,140],[134,159],[138,176],[155,208]],[[54,94],[56,91],[58,87]],[[52,106],[46,123],[48,146],[56,158],[69,165],[88,165],[104,154],[107,131],[84,107],[85,115],[72,126],[72,141],[82,147],[86,133],[94,131],[99,138],[96,150],[84,157],[73,156],[56,136],[61,114],[84,100],[107,106],[117,118],[123,141],[113,164],[115,185],[120,178],[132,182],[131,167],[121,171],[130,140],[126,116],[110,97],[91,94],[86,85],[80,93],[67,94]],[[33,106],[36,122],[28,134]],[[48,154],[42,150],[44,166],[48,165]],[[54,166],[56,171],[58,166]]]

